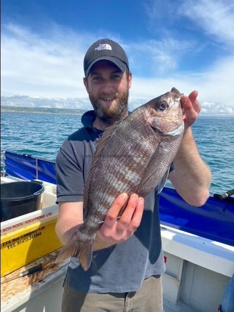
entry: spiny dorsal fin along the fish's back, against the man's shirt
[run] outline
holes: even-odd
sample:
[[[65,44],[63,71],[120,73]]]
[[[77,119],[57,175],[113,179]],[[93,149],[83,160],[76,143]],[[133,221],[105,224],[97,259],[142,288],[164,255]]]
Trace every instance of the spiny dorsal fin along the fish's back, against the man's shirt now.
[[[108,141],[109,137],[113,134],[113,132],[116,130],[117,126],[120,124],[122,120],[116,121],[113,125],[109,126],[106,128],[106,130],[103,132],[102,136],[98,139],[97,142],[97,149],[96,152],[93,156],[91,167],[90,167],[90,172],[89,175],[85,181],[84,184],[84,193],[83,193],[83,219],[86,218],[88,214],[89,207],[88,205],[88,198],[89,198],[89,189],[90,189],[90,184],[98,163],[98,159],[100,158],[100,155],[106,145],[106,142]]]

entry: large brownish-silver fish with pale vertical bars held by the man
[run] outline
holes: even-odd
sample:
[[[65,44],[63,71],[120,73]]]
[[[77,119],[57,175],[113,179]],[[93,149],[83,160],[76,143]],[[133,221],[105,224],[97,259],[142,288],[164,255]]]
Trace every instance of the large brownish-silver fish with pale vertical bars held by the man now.
[[[74,256],[87,271],[96,233],[117,196],[135,193],[146,198],[157,186],[161,191],[183,137],[181,96],[172,88],[109,126],[98,139],[84,185],[84,222],[60,251],[57,262]]]

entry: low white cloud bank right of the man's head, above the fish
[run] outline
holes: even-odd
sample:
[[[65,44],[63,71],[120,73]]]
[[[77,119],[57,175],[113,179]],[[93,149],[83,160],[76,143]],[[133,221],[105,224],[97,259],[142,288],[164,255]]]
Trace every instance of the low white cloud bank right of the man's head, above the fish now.
[[[207,102],[220,103],[234,108],[234,58],[217,61],[209,71],[193,75],[171,75],[164,79],[133,78],[132,95],[135,98],[155,98],[176,87],[188,95],[198,91],[198,99]]]

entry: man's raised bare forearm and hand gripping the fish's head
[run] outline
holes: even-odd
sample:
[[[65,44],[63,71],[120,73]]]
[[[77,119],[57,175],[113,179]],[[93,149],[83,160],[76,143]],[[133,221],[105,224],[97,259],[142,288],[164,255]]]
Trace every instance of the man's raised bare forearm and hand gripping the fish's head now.
[[[196,97],[197,92],[193,91],[189,97],[181,98],[185,131],[174,159],[175,170],[169,174],[169,178],[179,195],[189,204],[202,206],[209,197],[211,171],[199,155],[192,134],[191,126],[201,109]]]

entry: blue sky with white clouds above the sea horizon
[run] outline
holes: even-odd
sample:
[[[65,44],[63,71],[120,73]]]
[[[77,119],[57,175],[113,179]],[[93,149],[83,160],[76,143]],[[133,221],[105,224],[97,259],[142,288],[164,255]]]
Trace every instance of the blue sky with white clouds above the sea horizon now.
[[[100,38],[128,55],[131,103],[175,86],[197,90],[203,113],[234,114],[231,0],[1,0],[1,96],[87,98],[83,56]]]

